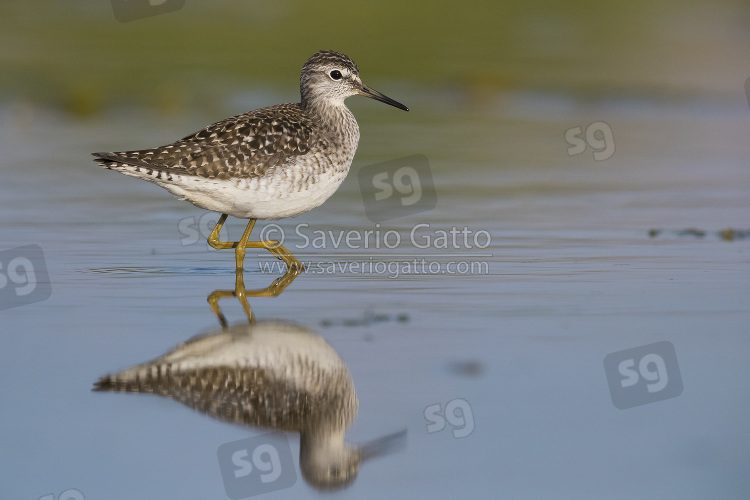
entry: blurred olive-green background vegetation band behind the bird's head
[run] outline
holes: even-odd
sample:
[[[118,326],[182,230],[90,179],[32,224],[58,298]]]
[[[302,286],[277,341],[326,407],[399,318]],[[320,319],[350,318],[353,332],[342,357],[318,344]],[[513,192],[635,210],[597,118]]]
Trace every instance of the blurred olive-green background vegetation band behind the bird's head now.
[[[690,94],[741,85],[740,76],[717,85],[710,75],[724,69],[722,53],[750,46],[747,2],[704,4],[186,0],[179,11],[120,23],[107,0],[3,0],[0,103],[87,116],[118,105],[213,106],[252,86],[296,93],[302,64],[323,48],[351,55],[375,88],[396,81],[479,99],[498,89]]]

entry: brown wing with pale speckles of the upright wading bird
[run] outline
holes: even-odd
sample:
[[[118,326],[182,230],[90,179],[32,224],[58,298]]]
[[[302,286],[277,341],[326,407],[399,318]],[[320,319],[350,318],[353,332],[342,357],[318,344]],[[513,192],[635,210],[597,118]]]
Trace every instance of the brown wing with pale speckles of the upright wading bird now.
[[[307,153],[316,139],[297,104],[280,104],[233,116],[166,146],[94,153],[100,165],[134,165],[207,179],[253,178]]]

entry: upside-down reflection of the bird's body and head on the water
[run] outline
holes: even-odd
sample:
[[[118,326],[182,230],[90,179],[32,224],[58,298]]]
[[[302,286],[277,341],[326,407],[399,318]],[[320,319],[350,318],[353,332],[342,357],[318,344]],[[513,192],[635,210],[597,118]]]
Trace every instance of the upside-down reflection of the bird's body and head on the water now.
[[[195,337],[94,390],[158,394],[227,422],[299,432],[300,469],[318,488],[347,486],[363,459],[404,437],[345,443],[358,408],[349,369],[322,337],[280,321]]]

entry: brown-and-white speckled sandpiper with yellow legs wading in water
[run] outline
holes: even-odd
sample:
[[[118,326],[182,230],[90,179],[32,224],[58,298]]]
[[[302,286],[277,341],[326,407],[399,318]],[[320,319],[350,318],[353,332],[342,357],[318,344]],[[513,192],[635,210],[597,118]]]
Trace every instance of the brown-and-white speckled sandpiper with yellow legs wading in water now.
[[[237,269],[246,248],[265,248],[288,267],[302,264],[278,241],[248,241],[257,219],[295,217],[326,201],[349,172],[359,127],[344,104],[364,95],[409,108],[362,83],[348,56],[314,54],[302,67],[299,103],[249,111],[153,149],[93,153],[99,165],[157,184],[181,200],[220,212],[208,237],[234,248]],[[240,241],[219,240],[231,215],[250,219]]]

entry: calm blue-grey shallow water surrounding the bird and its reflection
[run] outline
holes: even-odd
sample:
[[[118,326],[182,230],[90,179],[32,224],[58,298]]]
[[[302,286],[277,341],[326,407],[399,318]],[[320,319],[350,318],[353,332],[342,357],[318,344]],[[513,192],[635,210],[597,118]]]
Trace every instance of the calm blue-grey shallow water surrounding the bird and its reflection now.
[[[348,101],[362,140],[345,183],[256,229],[283,232],[307,272],[277,297],[253,296],[282,276],[270,255],[248,252],[244,273],[253,318],[312,332],[348,367],[359,399],[348,443],[407,431],[337,495],[746,497],[750,112],[741,79],[713,77],[691,98],[404,84],[379,90],[409,114]],[[220,450],[271,432],[91,391],[221,333],[207,298],[236,291],[236,276],[233,253],[205,242],[217,215],[89,156],[223,117],[195,113],[0,108],[0,497],[227,498]],[[416,179],[422,197],[408,210],[391,199],[388,214],[403,216],[375,222],[361,172],[412,155],[426,167],[402,194]],[[17,258],[36,271],[28,293]],[[219,305],[248,323],[237,298]],[[634,375],[634,392],[617,386]],[[299,434],[275,439],[292,464],[269,498],[320,496]]]

